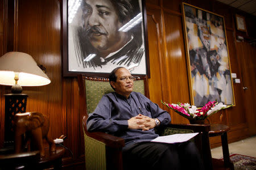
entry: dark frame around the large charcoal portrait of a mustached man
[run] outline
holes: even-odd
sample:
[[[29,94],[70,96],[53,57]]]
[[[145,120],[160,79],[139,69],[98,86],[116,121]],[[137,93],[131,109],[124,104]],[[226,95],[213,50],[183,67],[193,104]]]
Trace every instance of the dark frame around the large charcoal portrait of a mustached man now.
[[[80,0],[80,1],[82,1],[82,0]],[[145,0],[133,0],[133,1],[135,1],[141,5],[141,15],[142,15],[141,47],[143,48],[143,51],[142,51],[143,57],[142,57],[141,61],[138,62],[138,65],[139,66],[142,65],[143,69],[141,69],[141,72],[139,70],[136,73],[132,72],[134,69],[131,69],[130,71],[131,71],[131,74],[133,74],[135,76],[147,75],[148,78],[150,78],[150,64],[149,64],[149,57],[148,57],[148,38],[147,38],[147,14],[146,14]],[[62,57],[63,57],[63,76],[64,77],[77,76],[77,74],[82,73],[82,74],[86,74],[88,76],[108,77],[110,71],[98,72],[98,71],[93,71],[92,69],[90,71],[87,71],[86,69],[85,70],[77,70],[77,71],[70,70],[69,66],[71,65],[71,63],[69,61],[71,61],[72,55],[69,54],[69,51],[71,51],[71,50],[69,50],[69,45],[70,45],[69,39],[71,39],[71,33],[68,30],[69,26],[70,26],[68,23],[68,17],[69,17],[68,16],[68,0],[63,0],[60,2],[61,2],[61,44],[62,44],[61,53],[62,53]],[[136,37],[136,36],[134,36],[134,37]],[[139,42],[141,42],[141,41],[139,41]],[[109,70],[113,70],[115,67],[118,67],[118,66],[119,65],[109,66]],[[120,66],[122,66],[122,65],[120,65]],[[137,66],[135,66],[135,69]]]

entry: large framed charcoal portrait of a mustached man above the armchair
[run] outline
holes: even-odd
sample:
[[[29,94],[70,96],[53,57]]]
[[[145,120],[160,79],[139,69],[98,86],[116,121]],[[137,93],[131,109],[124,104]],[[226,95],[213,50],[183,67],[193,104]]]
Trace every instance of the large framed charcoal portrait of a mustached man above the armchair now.
[[[63,0],[63,75],[148,75],[144,0]]]

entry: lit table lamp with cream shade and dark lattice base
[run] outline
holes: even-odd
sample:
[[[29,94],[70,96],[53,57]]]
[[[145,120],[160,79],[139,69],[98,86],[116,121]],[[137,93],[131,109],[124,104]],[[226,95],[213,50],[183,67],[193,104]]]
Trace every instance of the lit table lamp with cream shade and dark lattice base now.
[[[5,146],[13,145],[13,118],[16,113],[26,112],[27,95],[22,86],[44,86],[51,80],[26,53],[9,52],[0,57],[0,84],[11,87],[5,95]]]

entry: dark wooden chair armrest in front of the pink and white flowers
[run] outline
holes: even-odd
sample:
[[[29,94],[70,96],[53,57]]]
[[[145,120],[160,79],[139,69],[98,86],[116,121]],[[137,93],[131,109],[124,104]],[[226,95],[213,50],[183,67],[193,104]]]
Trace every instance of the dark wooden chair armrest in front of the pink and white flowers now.
[[[177,128],[177,129],[189,129],[194,132],[207,133],[210,131],[210,125],[197,125],[197,124],[168,124],[164,127]]]

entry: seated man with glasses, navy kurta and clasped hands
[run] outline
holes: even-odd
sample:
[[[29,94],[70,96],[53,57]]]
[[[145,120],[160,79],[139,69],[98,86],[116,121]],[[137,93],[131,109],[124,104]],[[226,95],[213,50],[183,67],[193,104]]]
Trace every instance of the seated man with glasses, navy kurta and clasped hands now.
[[[124,67],[109,75],[115,92],[106,94],[87,120],[88,131],[104,131],[125,139],[124,169],[204,169],[193,142],[155,143],[154,128],[167,125],[170,114],[144,95],[133,92],[133,76]]]

